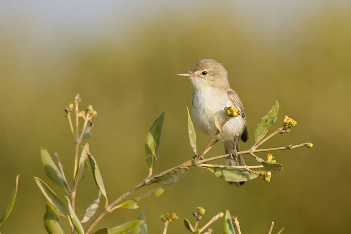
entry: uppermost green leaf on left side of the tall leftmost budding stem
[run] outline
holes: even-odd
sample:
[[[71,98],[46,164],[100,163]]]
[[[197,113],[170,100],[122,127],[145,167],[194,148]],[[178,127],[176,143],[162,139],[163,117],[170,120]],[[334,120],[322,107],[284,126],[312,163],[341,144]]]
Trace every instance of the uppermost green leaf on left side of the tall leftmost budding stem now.
[[[57,168],[56,164],[52,160],[49,152],[41,147],[40,148],[40,156],[42,158],[42,163],[44,165],[44,170],[46,175],[58,185],[65,187],[66,181],[63,179],[59,169]]]

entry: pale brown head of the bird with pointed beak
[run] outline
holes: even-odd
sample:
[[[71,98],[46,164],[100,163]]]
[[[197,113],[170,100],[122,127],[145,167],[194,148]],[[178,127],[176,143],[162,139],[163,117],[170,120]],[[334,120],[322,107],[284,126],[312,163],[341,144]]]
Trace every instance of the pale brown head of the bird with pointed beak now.
[[[189,77],[197,90],[229,88],[226,69],[213,59],[202,59],[189,72],[177,75]]]

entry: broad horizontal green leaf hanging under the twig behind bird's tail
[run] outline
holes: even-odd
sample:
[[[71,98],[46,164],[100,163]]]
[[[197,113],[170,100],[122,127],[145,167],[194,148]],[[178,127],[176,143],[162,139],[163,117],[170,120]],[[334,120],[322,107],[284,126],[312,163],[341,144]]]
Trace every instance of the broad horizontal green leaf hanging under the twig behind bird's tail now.
[[[215,168],[208,167],[209,171],[215,174],[218,178],[224,179],[225,181],[230,182],[241,182],[248,181],[258,177],[254,173],[250,173],[245,169],[229,169],[229,168]],[[258,173],[264,172],[263,170],[255,170]]]

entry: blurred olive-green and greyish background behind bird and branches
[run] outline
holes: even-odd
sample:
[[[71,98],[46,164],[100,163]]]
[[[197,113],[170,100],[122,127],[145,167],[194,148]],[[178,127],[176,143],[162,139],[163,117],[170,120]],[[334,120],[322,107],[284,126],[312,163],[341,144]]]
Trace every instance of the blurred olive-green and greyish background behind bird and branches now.
[[[40,146],[58,152],[72,177],[74,145],[64,108],[76,93],[98,111],[89,140],[110,200],[147,175],[144,138],[165,111],[156,171],[192,157],[185,106],[193,87],[175,74],[212,58],[229,72],[245,106],[250,131],[278,100],[278,121],[297,120],[291,133],[265,147],[311,141],[312,149],[275,152],[283,172],[236,188],[191,168],[180,182],[137,210],[108,214],[99,227],[136,219],[143,210],[150,233],[159,216],[181,220],[169,233],[186,233],[183,218],[196,206],[205,220],[228,208],[244,233],[350,233],[351,4],[349,1],[1,1],[0,207],[21,174],[15,207],[2,233],[45,233],[45,199],[33,176],[46,177]],[[275,125],[275,128],[278,126]],[[198,133],[198,148],[208,140]],[[209,153],[223,153],[218,144]],[[265,157],[265,154],[260,154]],[[245,156],[248,164],[256,163]],[[223,160],[221,161],[223,162]],[[159,185],[158,185],[159,186]],[[157,187],[152,185],[151,187]],[[78,189],[78,215],[94,198],[91,173]],[[66,220],[62,220],[65,223]],[[219,221],[214,233],[221,233]]]

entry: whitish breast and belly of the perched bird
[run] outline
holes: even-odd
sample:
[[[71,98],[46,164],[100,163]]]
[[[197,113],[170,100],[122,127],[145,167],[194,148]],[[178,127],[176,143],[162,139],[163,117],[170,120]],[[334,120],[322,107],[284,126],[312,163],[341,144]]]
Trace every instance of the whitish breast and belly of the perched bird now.
[[[212,136],[217,131],[215,114],[218,112],[221,122],[226,118],[225,107],[233,106],[226,91],[209,88],[205,91],[195,91],[193,98],[194,123],[200,131]],[[240,116],[231,118],[218,135],[220,141],[234,140],[242,134],[245,126],[244,119]]]

